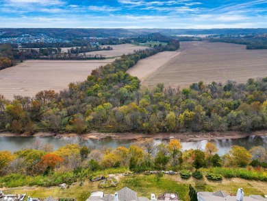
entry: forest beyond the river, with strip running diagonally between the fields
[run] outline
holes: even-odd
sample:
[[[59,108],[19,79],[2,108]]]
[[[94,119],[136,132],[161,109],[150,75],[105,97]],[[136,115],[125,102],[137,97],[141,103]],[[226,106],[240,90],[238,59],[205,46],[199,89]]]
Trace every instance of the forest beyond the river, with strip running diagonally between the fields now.
[[[125,73],[142,58],[178,48],[179,41],[171,40],[122,56],[60,93],[40,91],[34,98],[14,96],[13,101],[1,96],[0,130],[81,134],[266,129],[267,78],[249,79],[246,84],[199,82],[183,89],[157,84],[148,89]]]

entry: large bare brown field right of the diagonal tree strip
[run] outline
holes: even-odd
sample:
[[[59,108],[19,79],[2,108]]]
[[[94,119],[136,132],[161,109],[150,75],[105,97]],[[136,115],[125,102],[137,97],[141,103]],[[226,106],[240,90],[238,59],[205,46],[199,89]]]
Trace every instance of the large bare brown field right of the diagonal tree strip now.
[[[187,87],[200,80],[245,83],[249,78],[267,76],[267,49],[246,50],[245,45],[230,43],[181,42],[180,54],[174,57],[170,53],[156,54],[128,72],[149,87],[157,83]]]

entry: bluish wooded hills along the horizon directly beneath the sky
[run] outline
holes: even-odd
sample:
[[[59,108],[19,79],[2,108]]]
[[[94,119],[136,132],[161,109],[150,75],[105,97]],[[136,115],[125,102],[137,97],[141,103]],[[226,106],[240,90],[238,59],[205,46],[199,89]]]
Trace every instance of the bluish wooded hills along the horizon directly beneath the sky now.
[[[57,29],[57,28],[1,28],[0,38],[22,37],[24,34],[40,36],[45,34],[51,38],[82,38],[82,37],[132,37],[159,33],[165,36],[178,34],[266,34],[267,29]]]

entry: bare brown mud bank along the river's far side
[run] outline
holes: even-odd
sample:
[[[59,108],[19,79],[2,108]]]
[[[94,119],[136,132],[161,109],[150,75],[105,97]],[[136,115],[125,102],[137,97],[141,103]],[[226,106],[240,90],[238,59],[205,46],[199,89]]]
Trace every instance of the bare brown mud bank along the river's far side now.
[[[251,136],[267,136],[266,130],[255,132],[183,132],[183,133],[158,133],[158,134],[140,134],[140,133],[101,133],[92,132],[86,134],[57,134],[52,132],[38,132],[36,134],[13,134],[10,132],[0,133],[0,137],[80,137],[85,140],[101,140],[101,139],[118,139],[118,140],[138,140],[144,138],[153,139],[178,139],[181,142],[194,142],[203,140],[215,140],[215,139],[242,139]]]

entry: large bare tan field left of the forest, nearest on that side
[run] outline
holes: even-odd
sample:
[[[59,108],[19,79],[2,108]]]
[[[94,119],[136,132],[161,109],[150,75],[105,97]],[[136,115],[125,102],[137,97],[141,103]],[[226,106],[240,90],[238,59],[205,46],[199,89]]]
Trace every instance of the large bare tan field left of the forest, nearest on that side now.
[[[59,92],[70,82],[86,80],[93,69],[113,60],[27,60],[0,71],[0,94],[13,99],[14,95],[34,97],[42,90]]]

